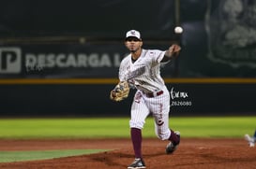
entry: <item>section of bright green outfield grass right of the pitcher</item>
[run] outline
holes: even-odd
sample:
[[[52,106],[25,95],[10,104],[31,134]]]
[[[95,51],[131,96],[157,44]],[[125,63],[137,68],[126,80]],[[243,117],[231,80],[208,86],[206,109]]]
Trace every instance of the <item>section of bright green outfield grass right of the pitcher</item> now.
[[[173,120],[173,126],[183,137],[242,138],[244,134],[254,134],[256,117],[179,118]]]

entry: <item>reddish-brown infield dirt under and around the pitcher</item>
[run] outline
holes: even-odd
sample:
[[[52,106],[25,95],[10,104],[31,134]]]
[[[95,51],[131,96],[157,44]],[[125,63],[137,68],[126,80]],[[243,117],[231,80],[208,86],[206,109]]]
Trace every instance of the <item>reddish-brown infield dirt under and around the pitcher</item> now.
[[[148,169],[256,168],[256,147],[243,138],[182,138],[173,155],[165,154],[167,141],[143,140]],[[125,169],[134,160],[129,139],[0,140],[0,150],[113,149],[91,155],[30,162],[2,162],[5,169]]]

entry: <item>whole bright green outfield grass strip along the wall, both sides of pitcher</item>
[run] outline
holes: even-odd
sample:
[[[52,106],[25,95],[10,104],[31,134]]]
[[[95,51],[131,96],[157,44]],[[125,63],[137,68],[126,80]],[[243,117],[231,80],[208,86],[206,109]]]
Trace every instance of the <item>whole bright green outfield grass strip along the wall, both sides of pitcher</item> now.
[[[126,138],[128,118],[2,119],[0,138]],[[170,127],[183,137],[241,137],[256,129],[256,117],[171,118]],[[154,120],[148,118],[144,137],[156,137]]]

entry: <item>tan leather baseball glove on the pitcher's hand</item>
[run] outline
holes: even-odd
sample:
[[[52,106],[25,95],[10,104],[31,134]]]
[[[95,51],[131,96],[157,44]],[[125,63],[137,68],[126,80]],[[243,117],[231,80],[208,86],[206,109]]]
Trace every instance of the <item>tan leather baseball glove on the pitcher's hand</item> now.
[[[115,102],[120,102],[128,97],[129,86],[128,81],[120,81],[111,91],[110,98]]]

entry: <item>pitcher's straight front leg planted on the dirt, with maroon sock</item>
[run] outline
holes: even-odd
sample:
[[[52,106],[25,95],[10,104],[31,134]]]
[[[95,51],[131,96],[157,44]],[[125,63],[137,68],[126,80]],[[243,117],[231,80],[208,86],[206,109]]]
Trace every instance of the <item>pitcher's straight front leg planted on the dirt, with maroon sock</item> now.
[[[134,100],[131,106],[130,111],[130,120],[129,120],[129,127],[130,127],[130,137],[132,141],[132,146],[135,154],[135,161],[132,162],[128,168],[132,168],[137,165],[143,165],[143,154],[142,154],[142,129],[145,123],[146,117],[149,115],[149,110],[144,103],[142,94],[140,92],[136,92],[134,96]],[[143,167],[140,166],[140,167]]]

